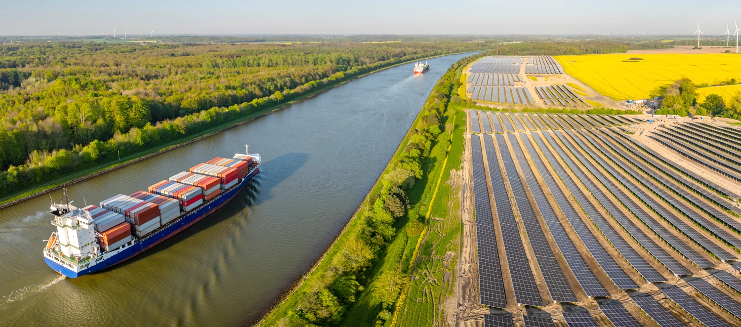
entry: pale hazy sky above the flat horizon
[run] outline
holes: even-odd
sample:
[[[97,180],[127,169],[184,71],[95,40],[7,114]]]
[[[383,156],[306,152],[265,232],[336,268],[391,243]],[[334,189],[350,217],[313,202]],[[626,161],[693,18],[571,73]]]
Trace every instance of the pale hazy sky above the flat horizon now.
[[[738,0],[0,0],[0,35],[580,34],[705,35],[741,23]],[[733,33],[731,31],[731,33]]]

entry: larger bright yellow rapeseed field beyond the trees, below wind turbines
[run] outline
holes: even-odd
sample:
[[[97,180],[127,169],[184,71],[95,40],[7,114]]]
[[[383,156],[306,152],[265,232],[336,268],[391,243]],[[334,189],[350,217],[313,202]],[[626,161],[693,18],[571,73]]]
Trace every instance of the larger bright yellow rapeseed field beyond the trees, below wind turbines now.
[[[555,58],[566,73],[614,100],[648,98],[659,87],[682,77],[698,85],[741,79],[741,55],[736,53],[620,53]]]

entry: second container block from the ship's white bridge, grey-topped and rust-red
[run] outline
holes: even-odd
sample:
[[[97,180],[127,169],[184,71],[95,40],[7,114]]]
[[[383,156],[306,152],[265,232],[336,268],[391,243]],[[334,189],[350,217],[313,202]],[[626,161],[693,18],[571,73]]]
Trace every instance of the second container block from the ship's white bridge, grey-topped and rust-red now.
[[[133,225],[136,235],[142,237],[160,227],[159,205],[119,194],[100,202],[102,208],[124,215]]]

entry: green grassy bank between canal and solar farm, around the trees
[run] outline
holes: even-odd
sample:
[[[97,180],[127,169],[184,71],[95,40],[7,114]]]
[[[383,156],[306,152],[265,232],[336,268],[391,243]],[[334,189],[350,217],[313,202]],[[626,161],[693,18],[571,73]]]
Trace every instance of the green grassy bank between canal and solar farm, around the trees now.
[[[459,79],[460,67],[458,67],[455,73],[457,73],[455,79]],[[441,78],[441,82],[442,79],[445,79],[445,76]],[[455,92],[457,86],[458,84],[447,91],[448,96]],[[388,174],[393,169],[394,164],[398,162],[400,157],[402,157],[405,148],[407,148],[407,145],[413,139],[416,127],[419,126],[422,121],[422,111],[416,118],[415,122],[413,122],[413,127],[408,131],[407,135],[400,143],[399,148],[391,158],[388,167],[383,171],[381,176]],[[454,117],[456,114],[458,117]],[[439,133],[436,139],[433,140],[431,151],[422,162],[422,171],[424,174],[422,175],[422,178],[416,180],[414,186],[407,192],[408,203],[411,205],[409,211],[422,214],[423,217],[429,217],[431,214],[437,216],[439,213],[447,210],[448,205],[446,199],[449,199],[451,194],[450,187],[444,185],[450,174],[448,168],[459,165],[459,156],[460,153],[462,153],[461,138],[463,137],[463,132],[461,128],[465,128],[465,113],[445,106],[445,110],[443,110],[440,118],[440,125],[444,128],[442,133]],[[453,129],[453,125],[456,126],[455,130]],[[451,147],[451,138],[453,138],[453,143],[458,144],[453,144]],[[456,153],[454,156],[458,159],[448,161],[447,158],[449,151]],[[438,188],[438,185],[442,186]],[[282,324],[286,322],[286,317],[289,317],[290,314],[296,310],[299,305],[301,305],[302,300],[305,299],[305,297],[310,295],[311,292],[325,287],[327,283],[326,280],[331,278],[333,274],[333,262],[341,255],[342,249],[346,247],[348,242],[352,242],[352,240],[361,237],[360,233],[362,233],[363,219],[356,218],[364,217],[365,214],[368,214],[372,210],[372,203],[369,199],[378,196],[382,192],[383,188],[384,185],[382,183],[376,182],[376,185],[374,185],[371,192],[369,192],[368,197],[362,202],[359,210],[355,215],[353,215],[353,218],[350,219],[350,222],[345,227],[345,230],[342,231],[342,234],[340,234],[333,245],[330,246],[328,251],[325,253],[325,256],[320,258],[320,261],[313,270],[308,271],[305,278],[300,282],[301,284],[298,285],[294,291],[286,295],[286,297],[282,299],[282,302],[277,304],[276,307],[273,308],[273,310],[270,311],[261,322],[259,322],[261,326],[282,326]],[[439,195],[435,196],[436,193]],[[434,208],[429,210],[429,205],[433,198],[441,200],[435,201]],[[386,306],[386,309],[384,308],[384,303],[379,299],[382,297],[382,294],[379,294],[382,291],[379,291],[378,287],[378,283],[382,283],[379,282],[379,280],[383,280],[383,278],[379,277],[396,271],[400,271],[405,276],[408,276],[409,271],[413,269],[413,258],[415,258],[420,252],[419,245],[424,244],[421,249],[423,256],[428,256],[427,253],[431,251],[431,246],[429,246],[430,243],[421,242],[419,239],[420,235],[429,235],[429,233],[427,233],[428,228],[425,228],[425,226],[429,225],[428,222],[430,221],[433,221],[432,225],[436,225],[437,222],[439,222],[438,219],[425,219],[425,222],[421,222],[420,220],[422,219],[410,219],[408,216],[409,215],[404,215],[403,217],[399,217],[396,219],[396,222],[394,222],[393,227],[396,229],[396,234],[388,242],[388,245],[379,253],[378,260],[373,262],[373,265],[369,266],[367,271],[363,272],[363,275],[366,277],[365,283],[362,283],[364,290],[359,291],[357,294],[357,300],[348,306],[346,313],[342,316],[342,321],[339,322],[339,326],[373,326],[376,324],[376,326],[391,326],[393,324],[393,320],[390,319],[391,317],[379,320],[379,314],[382,315],[382,312],[388,312],[387,310],[396,311],[393,309],[398,309],[398,303],[401,301],[397,302],[396,299],[394,299],[391,308],[388,306]],[[414,216],[416,216],[416,214]],[[436,230],[436,228],[432,229]],[[453,234],[455,233],[450,233],[450,235]],[[447,236],[444,237],[446,237],[447,241]],[[431,239],[432,237],[428,237],[423,241]],[[405,277],[405,279],[408,280],[408,277]],[[408,283],[406,283],[406,285],[408,285]],[[408,293],[406,285],[401,291],[402,296],[400,298],[402,299],[405,298],[405,294]],[[416,286],[413,285],[412,287],[416,289]],[[397,305],[393,305],[394,303]]]

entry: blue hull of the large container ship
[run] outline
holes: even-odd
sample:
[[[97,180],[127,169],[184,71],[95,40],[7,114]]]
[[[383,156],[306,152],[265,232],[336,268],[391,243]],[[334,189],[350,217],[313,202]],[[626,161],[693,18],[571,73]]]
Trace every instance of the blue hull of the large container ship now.
[[[156,234],[150,234],[149,236],[144,237],[142,240],[139,240],[139,242],[136,242],[134,245],[126,248],[124,251],[113,255],[113,257],[109,257],[105,260],[99,261],[95,265],[90,266],[90,268],[78,272],[64,267],[64,265],[60,265],[59,263],[54,262],[47,257],[44,257],[44,260],[47,262],[47,265],[49,265],[55,271],[59,272],[59,274],[63,274],[64,276],[70,278],[76,278],[96,271],[100,271],[102,269],[112,267],[113,265],[129,260],[130,258],[136,256],[136,254],[140,254],[153,247],[154,245],[159,244],[159,242],[167,240],[168,238],[185,230],[185,228],[190,227],[190,225],[193,225],[209,214],[213,214],[213,212],[219,210],[219,208],[222,208],[222,206],[229,202],[229,200],[232,199],[237,193],[239,193],[239,191],[242,190],[242,187],[247,184],[247,181],[252,179],[252,177],[259,173],[259,171],[259,168],[253,169],[253,171],[250,171],[250,174],[247,174],[247,176],[242,179],[242,182],[240,182],[239,185],[236,185],[223,194],[216,196],[216,198],[214,198],[212,201],[207,202],[205,205],[202,205],[195,211],[191,211],[185,214],[185,216],[180,217],[179,219],[170,223],[170,225],[167,225],[167,227],[157,231]]]

